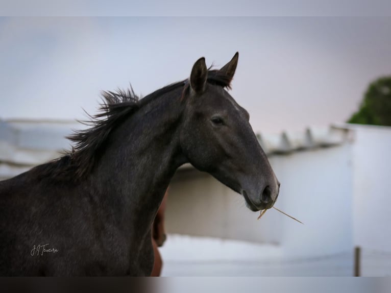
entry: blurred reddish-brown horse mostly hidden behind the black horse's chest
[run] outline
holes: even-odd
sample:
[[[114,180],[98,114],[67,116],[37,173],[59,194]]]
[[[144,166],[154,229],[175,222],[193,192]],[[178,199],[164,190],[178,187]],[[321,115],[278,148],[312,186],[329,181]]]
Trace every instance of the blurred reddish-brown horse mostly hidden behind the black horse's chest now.
[[[151,273],[151,277],[159,277],[163,265],[158,247],[163,246],[163,243],[166,239],[166,234],[164,231],[164,211],[165,211],[166,200],[167,200],[167,191],[164,194],[163,201],[159,207],[159,210],[152,224],[152,245],[154,247],[155,263]]]

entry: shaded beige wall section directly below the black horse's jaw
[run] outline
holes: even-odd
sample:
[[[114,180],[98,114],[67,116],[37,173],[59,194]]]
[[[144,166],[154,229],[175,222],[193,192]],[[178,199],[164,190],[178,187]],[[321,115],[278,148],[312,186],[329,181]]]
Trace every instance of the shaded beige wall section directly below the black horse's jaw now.
[[[240,194],[192,169],[179,171],[170,183],[165,226],[168,233],[277,243],[279,215],[271,212],[257,221],[258,215]]]

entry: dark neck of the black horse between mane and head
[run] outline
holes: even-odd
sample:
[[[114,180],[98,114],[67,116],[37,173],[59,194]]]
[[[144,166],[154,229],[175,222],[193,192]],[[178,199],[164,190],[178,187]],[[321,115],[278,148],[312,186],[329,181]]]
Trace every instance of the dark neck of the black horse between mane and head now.
[[[149,231],[170,179],[186,162],[179,143],[184,107],[179,96],[157,97],[124,121],[91,174],[90,186],[106,206],[131,216],[127,224],[138,231]]]

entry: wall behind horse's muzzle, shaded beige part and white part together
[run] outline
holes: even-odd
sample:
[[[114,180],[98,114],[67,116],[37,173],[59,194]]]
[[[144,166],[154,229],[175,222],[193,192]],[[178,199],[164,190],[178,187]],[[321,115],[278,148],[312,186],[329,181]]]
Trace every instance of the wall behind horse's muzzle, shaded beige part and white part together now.
[[[177,174],[166,209],[168,233],[281,244],[292,256],[350,252],[352,231],[351,145],[272,156],[281,182],[276,207],[305,225],[269,210],[258,213],[213,177]]]

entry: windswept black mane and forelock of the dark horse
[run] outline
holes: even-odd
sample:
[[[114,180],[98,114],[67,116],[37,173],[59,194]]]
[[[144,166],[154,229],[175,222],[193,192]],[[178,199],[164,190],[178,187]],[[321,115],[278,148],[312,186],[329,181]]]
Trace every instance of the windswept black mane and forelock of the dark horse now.
[[[230,89],[230,78],[219,70],[208,70],[207,82]],[[85,130],[74,130],[67,136],[74,142],[70,151],[51,162],[39,165],[33,170],[40,177],[58,179],[61,181],[80,180],[85,178],[99,160],[110,133],[121,124],[124,119],[135,113],[142,106],[148,104],[156,97],[183,87],[181,100],[189,93],[189,82],[183,80],[167,85],[140,99],[130,86],[127,90],[102,91],[102,103],[98,113],[90,115],[90,120],[79,121],[90,126]]]

